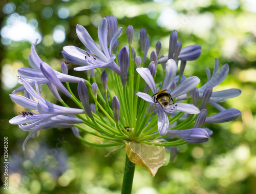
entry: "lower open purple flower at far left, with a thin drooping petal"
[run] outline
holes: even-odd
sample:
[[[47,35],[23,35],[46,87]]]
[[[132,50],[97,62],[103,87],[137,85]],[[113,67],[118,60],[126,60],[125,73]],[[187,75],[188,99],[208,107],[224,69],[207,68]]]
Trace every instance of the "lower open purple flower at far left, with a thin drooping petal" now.
[[[68,117],[65,115],[76,115],[84,113],[84,110],[73,109],[70,107],[59,106],[53,104],[41,97],[40,90],[38,89],[37,82],[35,82],[36,91],[31,87],[29,83],[24,81],[24,87],[29,93],[28,96],[33,96],[38,101],[36,102],[33,98],[26,98],[20,95],[11,94],[11,99],[25,107],[26,109],[37,111],[34,112],[22,112],[20,115],[13,117],[9,122],[11,124],[18,124],[19,128],[24,131],[32,131],[24,142],[24,146],[27,140],[35,135],[41,128],[52,128],[52,127],[71,127],[75,123],[82,123],[81,119]]]

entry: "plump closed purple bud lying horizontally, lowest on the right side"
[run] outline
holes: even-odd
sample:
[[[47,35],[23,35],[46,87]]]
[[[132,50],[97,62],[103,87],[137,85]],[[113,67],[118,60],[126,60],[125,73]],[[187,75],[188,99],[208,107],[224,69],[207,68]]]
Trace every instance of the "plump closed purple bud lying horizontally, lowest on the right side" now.
[[[180,138],[188,143],[204,143],[209,140],[209,135],[203,128],[167,130],[167,135]]]

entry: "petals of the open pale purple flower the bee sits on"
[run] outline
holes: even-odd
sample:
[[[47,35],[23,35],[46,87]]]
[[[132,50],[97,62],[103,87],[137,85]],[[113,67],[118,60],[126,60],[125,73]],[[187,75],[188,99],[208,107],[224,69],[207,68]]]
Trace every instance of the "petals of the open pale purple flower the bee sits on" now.
[[[140,74],[140,76],[145,80],[148,86],[151,88],[153,94],[156,94],[156,84],[150,70],[148,70],[147,68],[137,68],[136,70]],[[161,90],[169,90],[174,81],[176,73],[176,62],[173,59],[169,59],[167,61],[166,73]],[[169,94],[173,98],[176,98],[180,95],[186,94],[190,90],[193,90],[198,85],[199,82],[200,79],[198,77],[190,77],[184,80],[181,84],[179,84],[178,87],[171,91]],[[175,103],[175,105],[170,104],[166,105],[165,107],[162,107],[158,102],[154,101],[152,97],[146,93],[138,92],[136,95],[142,98],[143,100],[150,103],[154,103],[156,105],[158,110],[158,130],[161,136],[164,136],[167,133],[167,128],[169,124],[166,112],[172,113],[173,111],[177,110],[188,114],[200,113],[199,109],[193,104]]]

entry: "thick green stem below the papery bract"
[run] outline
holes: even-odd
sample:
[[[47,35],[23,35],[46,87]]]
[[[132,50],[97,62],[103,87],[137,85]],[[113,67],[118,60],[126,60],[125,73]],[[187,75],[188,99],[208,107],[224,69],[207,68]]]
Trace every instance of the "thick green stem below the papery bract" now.
[[[131,194],[133,188],[135,164],[132,163],[126,155],[125,167],[123,173],[123,186],[121,194]]]

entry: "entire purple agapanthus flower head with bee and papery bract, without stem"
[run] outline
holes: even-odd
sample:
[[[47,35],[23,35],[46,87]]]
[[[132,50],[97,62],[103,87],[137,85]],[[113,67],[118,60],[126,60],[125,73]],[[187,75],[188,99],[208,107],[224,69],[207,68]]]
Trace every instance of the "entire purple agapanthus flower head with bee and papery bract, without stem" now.
[[[75,71],[87,71],[87,78],[68,75],[64,62],[61,63],[62,73],[53,70],[37,55],[36,42],[31,45],[29,64],[32,69],[18,69],[18,82],[22,86],[13,91],[24,92],[24,96],[10,95],[15,103],[27,109],[10,120],[11,124],[18,124],[22,130],[31,132],[23,149],[28,139],[36,137],[42,128],[67,127],[88,145],[108,147],[124,144],[129,159],[146,167],[154,176],[165,163],[165,148],[171,152],[170,161],[173,161],[176,146],[208,141],[212,131],[203,127],[204,124],[228,122],[241,114],[237,109],[226,110],[219,104],[239,96],[239,89],[212,92],[212,88],[227,77],[228,64],[218,72],[216,59],[212,75],[206,68],[208,81],[197,88],[200,79],[191,75],[185,77],[183,72],[187,61],[200,57],[201,46],[182,48],[174,30],[170,34],[168,55],[159,55],[161,42],[157,42],[156,51],[152,51],[148,59],[150,39],[146,30],[140,31],[140,51],[137,52],[132,47],[132,26],[126,30],[128,45],[118,48],[121,31],[113,15],[103,18],[98,26],[99,48],[84,27],[76,26],[77,36],[87,50],[66,46],[62,54],[65,60],[80,66],[75,67]],[[97,76],[101,83],[96,81],[99,80]],[[159,77],[163,77],[162,81],[156,82]],[[70,82],[78,84],[78,96],[69,87]],[[53,104],[41,96],[44,84],[62,105]],[[99,84],[102,87],[98,87]],[[78,107],[69,107],[61,99],[59,91]],[[207,116],[208,103],[216,107],[217,114]],[[84,127],[84,124],[89,127]],[[88,142],[82,138],[83,135],[80,136],[81,132],[98,137],[102,142]]]

